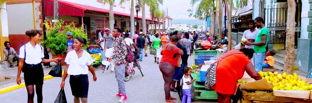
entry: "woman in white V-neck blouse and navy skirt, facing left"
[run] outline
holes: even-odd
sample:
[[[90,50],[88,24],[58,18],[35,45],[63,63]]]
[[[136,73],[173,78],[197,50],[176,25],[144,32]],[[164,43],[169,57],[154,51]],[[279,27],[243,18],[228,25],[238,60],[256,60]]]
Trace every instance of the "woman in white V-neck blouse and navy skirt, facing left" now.
[[[94,68],[91,65],[92,59],[88,52],[82,49],[86,45],[86,40],[76,37],[73,46],[74,50],[67,53],[65,62],[66,68],[61,82],[61,88],[64,88],[65,79],[70,75],[69,84],[71,85],[71,93],[74,96],[74,103],[87,103],[89,80],[88,72],[93,75],[93,81],[96,81]]]

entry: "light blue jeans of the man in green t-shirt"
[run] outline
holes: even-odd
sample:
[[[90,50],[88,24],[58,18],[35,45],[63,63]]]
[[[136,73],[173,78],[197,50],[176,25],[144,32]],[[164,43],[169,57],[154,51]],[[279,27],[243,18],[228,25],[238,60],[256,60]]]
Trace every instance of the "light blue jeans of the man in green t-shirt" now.
[[[255,69],[256,71],[261,71],[262,70],[262,62],[264,61],[264,57],[266,55],[266,52],[263,53],[254,53],[254,64],[255,64]]]

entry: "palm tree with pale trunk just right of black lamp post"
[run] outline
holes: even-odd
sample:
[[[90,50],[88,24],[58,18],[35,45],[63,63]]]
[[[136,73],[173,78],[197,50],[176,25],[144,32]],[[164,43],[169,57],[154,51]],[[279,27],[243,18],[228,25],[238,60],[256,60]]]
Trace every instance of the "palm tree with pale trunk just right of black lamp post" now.
[[[146,15],[145,15],[145,5],[149,6],[150,11],[155,11],[158,9],[159,4],[163,4],[163,0],[138,0],[141,10],[142,10],[142,30],[146,34]]]

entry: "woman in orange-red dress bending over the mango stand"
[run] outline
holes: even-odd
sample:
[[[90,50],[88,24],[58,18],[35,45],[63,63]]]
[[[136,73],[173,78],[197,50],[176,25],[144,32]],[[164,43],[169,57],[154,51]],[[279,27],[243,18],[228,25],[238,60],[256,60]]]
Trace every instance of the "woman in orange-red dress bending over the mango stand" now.
[[[216,84],[211,89],[217,92],[219,103],[231,103],[231,95],[235,92],[235,82],[243,77],[245,71],[255,80],[262,79],[249,61],[253,53],[253,49],[247,48],[240,51],[230,50],[217,60],[219,62],[216,68]]]

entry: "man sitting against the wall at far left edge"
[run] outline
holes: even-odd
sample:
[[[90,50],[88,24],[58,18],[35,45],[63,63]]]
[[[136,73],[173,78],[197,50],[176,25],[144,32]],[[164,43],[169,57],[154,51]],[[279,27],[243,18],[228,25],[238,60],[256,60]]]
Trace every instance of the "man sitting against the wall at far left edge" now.
[[[5,41],[4,46],[5,46],[5,48],[3,49],[3,52],[5,54],[4,60],[7,60],[10,63],[10,67],[14,67],[13,62],[18,60],[17,58],[18,56],[15,50],[10,47],[11,43],[9,41]],[[18,66],[18,62],[17,62],[17,66]]]

